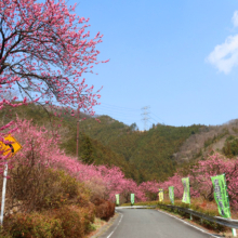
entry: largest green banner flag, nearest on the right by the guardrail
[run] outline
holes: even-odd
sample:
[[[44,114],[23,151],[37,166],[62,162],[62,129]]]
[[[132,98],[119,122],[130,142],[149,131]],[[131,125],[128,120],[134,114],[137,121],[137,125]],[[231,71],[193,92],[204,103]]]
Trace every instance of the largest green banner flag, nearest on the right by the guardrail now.
[[[223,217],[229,219],[232,215],[225,174],[212,176],[211,180],[214,187],[214,198],[217,203],[219,213]]]

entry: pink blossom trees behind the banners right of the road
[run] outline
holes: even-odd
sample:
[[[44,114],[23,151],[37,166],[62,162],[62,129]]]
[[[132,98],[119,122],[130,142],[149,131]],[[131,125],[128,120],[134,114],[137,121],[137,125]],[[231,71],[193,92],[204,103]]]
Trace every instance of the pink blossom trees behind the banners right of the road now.
[[[175,198],[182,199],[184,191],[182,178],[189,177],[190,196],[202,197],[211,201],[214,193],[211,176],[223,173],[226,175],[230,206],[234,209],[238,209],[238,159],[228,159],[217,153],[208,156],[204,160],[199,160],[186,174],[177,171],[166,182],[158,183],[157,187],[168,190],[169,186],[174,186]],[[146,189],[153,191],[154,185],[150,185],[150,182],[147,182],[147,184],[148,187]]]

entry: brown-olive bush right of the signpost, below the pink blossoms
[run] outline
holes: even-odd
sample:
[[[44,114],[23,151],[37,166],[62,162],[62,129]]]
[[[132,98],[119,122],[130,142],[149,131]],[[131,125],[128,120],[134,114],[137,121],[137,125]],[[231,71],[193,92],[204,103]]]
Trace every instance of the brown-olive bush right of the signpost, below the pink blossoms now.
[[[8,181],[8,213],[13,209],[32,212],[60,208],[85,190],[80,182],[64,171],[18,166],[11,171]]]

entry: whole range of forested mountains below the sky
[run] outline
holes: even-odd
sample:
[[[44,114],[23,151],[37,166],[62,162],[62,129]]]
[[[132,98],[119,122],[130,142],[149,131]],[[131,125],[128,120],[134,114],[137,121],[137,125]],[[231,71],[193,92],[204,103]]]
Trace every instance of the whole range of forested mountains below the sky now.
[[[75,156],[77,118],[55,117],[53,113],[34,104],[11,111],[6,107],[1,110],[0,122],[5,124],[17,114],[19,118],[32,119],[34,123],[44,125],[53,133],[57,130],[62,148]],[[135,123],[127,125],[108,116],[98,116],[97,119],[101,122],[80,114],[79,159],[87,163],[115,164],[127,177],[138,183],[163,181],[172,176],[178,167],[202,159],[213,150],[228,157],[238,155],[237,120],[216,127],[157,124],[148,131],[138,131]]]

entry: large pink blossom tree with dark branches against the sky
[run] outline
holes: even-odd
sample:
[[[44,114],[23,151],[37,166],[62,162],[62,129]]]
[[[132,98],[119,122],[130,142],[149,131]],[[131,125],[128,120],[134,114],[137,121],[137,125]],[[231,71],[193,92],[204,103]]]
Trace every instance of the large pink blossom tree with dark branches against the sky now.
[[[30,102],[53,107],[57,102],[94,114],[98,91],[81,77],[107,62],[97,61],[95,49],[103,36],[90,39],[89,19],[76,16],[75,8],[63,0],[0,1],[0,94],[17,89],[24,97],[23,103],[3,98],[0,109]],[[0,128],[0,141],[14,130],[14,122]],[[0,155],[1,164],[4,159]]]

